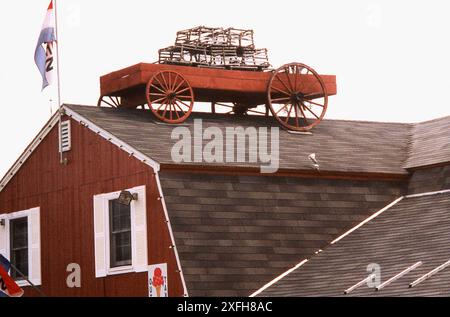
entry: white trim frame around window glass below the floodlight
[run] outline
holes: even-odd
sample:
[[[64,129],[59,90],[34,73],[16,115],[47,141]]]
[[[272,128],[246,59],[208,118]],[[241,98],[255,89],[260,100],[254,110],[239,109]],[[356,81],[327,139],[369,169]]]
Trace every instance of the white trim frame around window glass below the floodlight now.
[[[144,199],[145,197],[142,197],[142,195],[145,195],[145,186],[138,186],[134,188],[124,189],[132,194],[139,192],[138,200]],[[118,267],[111,267],[111,249],[110,249],[110,223],[109,223],[109,201],[118,199],[121,191],[116,191],[112,193],[105,193],[101,195],[101,199],[103,200],[103,219],[104,219],[104,235],[105,235],[105,261],[106,261],[106,276],[108,275],[119,275],[119,274],[126,274],[126,273],[134,273],[134,272],[140,272],[137,268],[136,262],[136,228],[134,226],[135,224],[135,215],[136,215],[136,203],[133,200],[130,205],[130,213],[131,213],[131,265],[126,266],[118,266]],[[147,214],[147,206],[144,206],[145,214]],[[147,235],[148,239],[148,235]]]

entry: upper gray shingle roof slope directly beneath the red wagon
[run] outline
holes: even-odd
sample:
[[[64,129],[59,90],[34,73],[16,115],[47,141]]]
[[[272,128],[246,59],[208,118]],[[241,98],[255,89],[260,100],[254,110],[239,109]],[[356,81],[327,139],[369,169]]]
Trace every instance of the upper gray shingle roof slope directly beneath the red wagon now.
[[[111,109],[68,105],[119,139],[161,164],[172,164],[173,125],[157,122],[149,110]],[[187,126],[193,131],[196,118],[203,128],[279,127],[272,118],[237,117],[193,113]],[[316,153],[322,171],[407,174],[402,167],[407,156],[410,125],[401,123],[324,120],[312,135],[280,130],[280,169],[311,170],[308,155]],[[204,141],[206,144],[208,140]],[[192,163],[214,165],[214,163]],[[219,164],[224,165],[224,164]],[[229,166],[259,167],[259,163],[226,163]]]

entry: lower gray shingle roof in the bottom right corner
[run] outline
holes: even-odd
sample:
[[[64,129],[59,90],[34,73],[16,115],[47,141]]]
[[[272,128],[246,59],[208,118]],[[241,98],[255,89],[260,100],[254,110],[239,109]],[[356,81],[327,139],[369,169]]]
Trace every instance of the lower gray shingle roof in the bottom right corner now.
[[[328,246],[261,296],[343,296],[381,267],[381,281],[418,261],[423,264],[376,292],[366,285],[346,296],[450,296],[450,267],[419,285],[409,283],[450,260],[450,192],[405,198],[350,235]]]

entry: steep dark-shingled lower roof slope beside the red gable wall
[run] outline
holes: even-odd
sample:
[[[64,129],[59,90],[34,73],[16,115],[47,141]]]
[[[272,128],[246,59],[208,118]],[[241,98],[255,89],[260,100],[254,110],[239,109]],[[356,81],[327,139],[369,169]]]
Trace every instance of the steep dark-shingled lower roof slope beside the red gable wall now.
[[[402,194],[402,183],[162,172],[191,296],[249,296]]]

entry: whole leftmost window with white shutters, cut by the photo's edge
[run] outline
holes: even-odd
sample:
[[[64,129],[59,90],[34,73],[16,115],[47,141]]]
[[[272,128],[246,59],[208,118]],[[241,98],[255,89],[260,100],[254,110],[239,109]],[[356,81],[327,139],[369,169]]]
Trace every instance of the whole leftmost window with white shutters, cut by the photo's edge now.
[[[0,215],[0,253],[34,285],[41,285],[40,209],[32,208]],[[11,276],[20,286],[29,285],[14,269]]]

